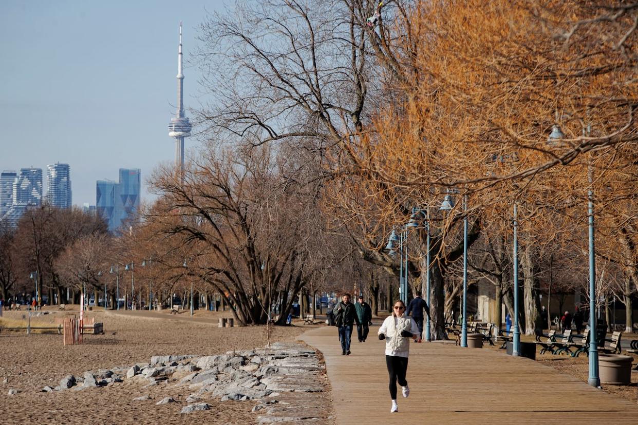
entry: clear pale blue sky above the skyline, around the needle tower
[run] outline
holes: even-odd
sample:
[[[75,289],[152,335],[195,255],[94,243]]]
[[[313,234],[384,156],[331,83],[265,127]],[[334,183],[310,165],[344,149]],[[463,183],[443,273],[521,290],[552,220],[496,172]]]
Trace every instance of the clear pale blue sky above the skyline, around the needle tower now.
[[[148,200],[152,169],[174,160],[167,125],[175,113],[179,21],[188,61],[195,28],[222,6],[219,0],[0,1],[0,169],[66,162],[73,203],[94,205],[96,180],[141,168]],[[184,102],[197,107],[198,71],[185,66]],[[194,144],[187,139],[187,150]]]

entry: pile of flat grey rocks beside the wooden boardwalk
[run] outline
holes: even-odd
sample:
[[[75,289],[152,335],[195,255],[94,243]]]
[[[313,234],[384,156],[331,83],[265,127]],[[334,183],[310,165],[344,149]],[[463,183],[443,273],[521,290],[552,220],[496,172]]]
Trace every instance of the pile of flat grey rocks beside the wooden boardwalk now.
[[[133,364],[128,368],[86,371],[78,378],[68,375],[54,389],[45,387],[42,391],[82,390],[124,380],[137,380],[144,387],[174,385],[188,387],[192,392],[186,397],[188,404],[182,407],[183,403],[179,403],[177,397],[166,397],[157,405],[180,405],[181,412],[186,414],[209,410],[205,400],[255,400],[259,402],[253,408],[253,412],[260,413],[258,421],[270,423],[281,421],[276,414],[286,410],[277,405],[288,403],[274,400],[281,393],[323,391],[322,380],[318,378],[323,369],[314,350],[297,343],[274,343],[270,349],[229,351],[218,356],[153,356],[149,363]],[[151,400],[151,397],[145,394],[134,400]],[[317,419],[297,417],[295,421]]]

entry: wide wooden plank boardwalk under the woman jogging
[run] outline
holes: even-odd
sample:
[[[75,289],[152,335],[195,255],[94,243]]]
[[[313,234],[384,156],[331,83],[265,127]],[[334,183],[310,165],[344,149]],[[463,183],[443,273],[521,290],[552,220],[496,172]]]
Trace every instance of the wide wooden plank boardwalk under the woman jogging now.
[[[411,343],[410,397],[399,387],[399,413],[390,414],[384,342],[370,329],[353,332],[352,355],[341,356],[337,329],[301,336],[325,357],[336,423],[350,424],[638,424],[638,405],[575,377],[503,351],[454,343]]]

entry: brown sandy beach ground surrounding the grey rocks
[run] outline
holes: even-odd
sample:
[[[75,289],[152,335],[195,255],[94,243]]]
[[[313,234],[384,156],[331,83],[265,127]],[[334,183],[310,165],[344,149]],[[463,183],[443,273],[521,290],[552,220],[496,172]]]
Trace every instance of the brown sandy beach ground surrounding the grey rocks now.
[[[32,319],[32,325],[54,325],[64,315],[58,312]],[[4,312],[5,326],[16,326],[25,312]],[[87,318],[103,322],[105,335],[85,335],[82,345],[64,346],[61,335],[24,335],[0,333],[0,422],[84,424],[251,424],[254,402],[212,402],[211,410],[181,415],[175,403],[156,406],[156,401],[172,396],[185,404],[188,389],[156,385],[144,388],[136,382],[123,382],[112,387],[41,393],[45,385],[56,386],[68,374],[81,376],[84,371],[114,366],[147,363],[151,356],[170,354],[212,355],[228,350],[263,347],[267,338],[263,327],[218,328],[219,317],[226,312],[87,312]],[[2,319],[0,319],[2,320]],[[8,324],[11,322],[11,324]],[[293,341],[309,326],[276,327],[271,341]],[[6,382],[4,382],[6,380]],[[18,394],[8,396],[9,389]],[[148,394],[152,400],[133,401]],[[330,393],[316,398],[320,410],[330,411]]]

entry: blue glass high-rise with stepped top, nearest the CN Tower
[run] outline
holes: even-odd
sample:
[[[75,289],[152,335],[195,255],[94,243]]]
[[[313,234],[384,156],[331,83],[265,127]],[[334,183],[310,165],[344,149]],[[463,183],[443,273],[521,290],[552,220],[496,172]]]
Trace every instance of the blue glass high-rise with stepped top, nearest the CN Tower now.
[[[96,212],[116,233],[133,219],[140,208],[141,173],[139,168],[120,168],[119,182],[98,180],[96,184]]]

